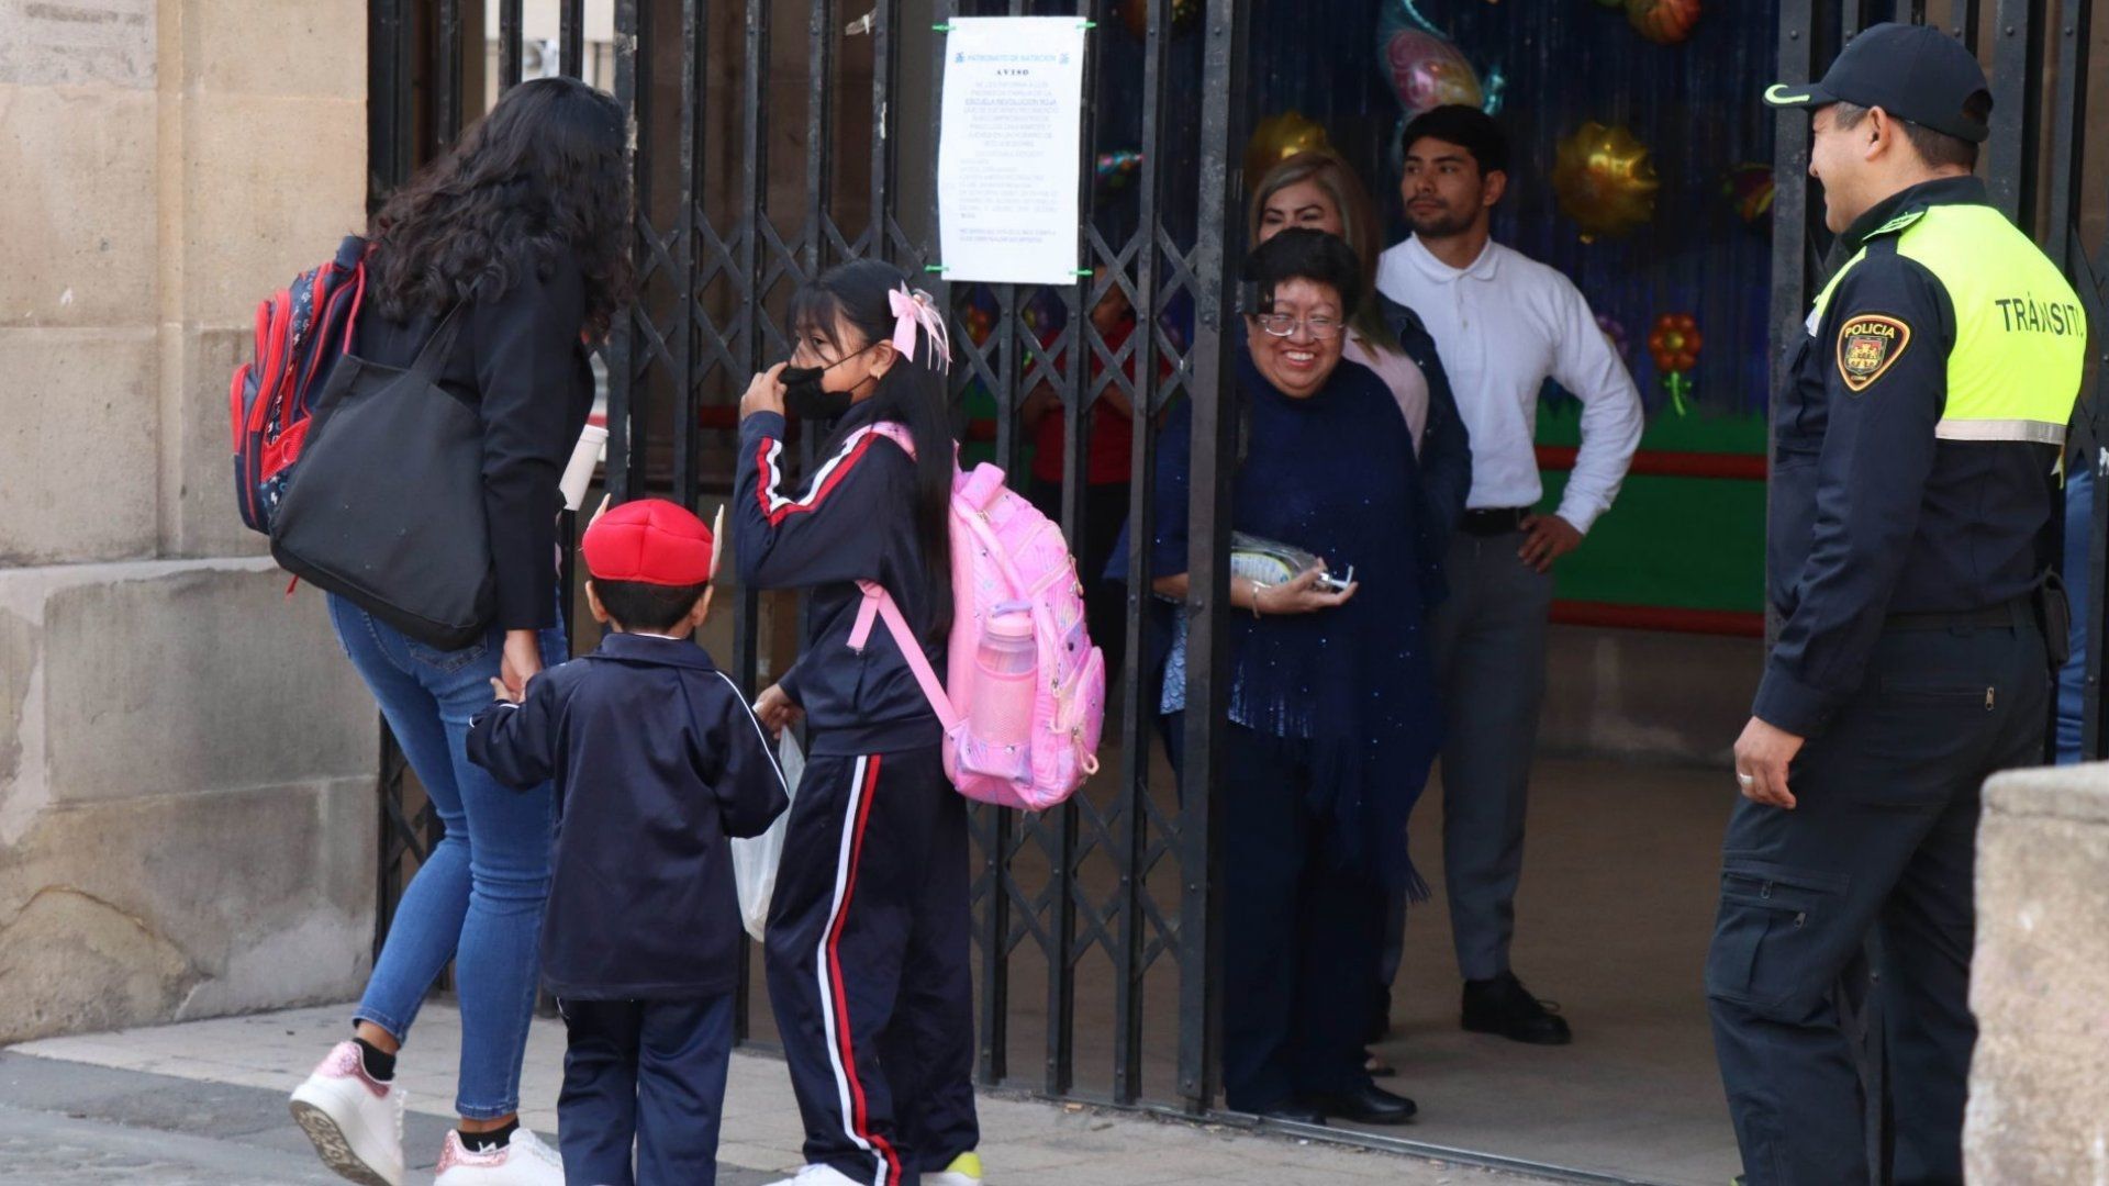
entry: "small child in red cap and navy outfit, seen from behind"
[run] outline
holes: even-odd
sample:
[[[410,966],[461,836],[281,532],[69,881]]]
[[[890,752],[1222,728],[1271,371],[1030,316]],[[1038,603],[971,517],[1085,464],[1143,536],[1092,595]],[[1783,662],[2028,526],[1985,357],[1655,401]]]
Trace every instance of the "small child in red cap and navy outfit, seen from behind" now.
[[[582,551],[607,637],[525,696],[494,680],[468,755],[506,785],[557,781],[542,981],[567,1032],[565,1178],[709,1186],[740,943],[725,840],[759,836],[789,800],[747,696],[692,642],[717,570],[702,519],[624,502]]]

